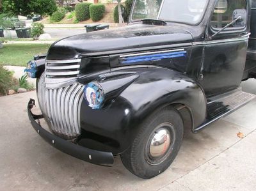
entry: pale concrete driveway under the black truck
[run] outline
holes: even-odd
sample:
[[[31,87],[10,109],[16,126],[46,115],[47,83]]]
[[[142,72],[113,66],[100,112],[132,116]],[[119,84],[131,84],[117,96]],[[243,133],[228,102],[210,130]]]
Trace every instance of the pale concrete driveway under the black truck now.
[[[256,94],[256,80],[243,83]],[[256,100],[202,132],[186,130],[171,167],[151,180],[125,169],[88,164],[36,134],[26,113],[35,91],[0,98],[0,190],[255,190]],[[242,132],[244,138],[237,137]]]

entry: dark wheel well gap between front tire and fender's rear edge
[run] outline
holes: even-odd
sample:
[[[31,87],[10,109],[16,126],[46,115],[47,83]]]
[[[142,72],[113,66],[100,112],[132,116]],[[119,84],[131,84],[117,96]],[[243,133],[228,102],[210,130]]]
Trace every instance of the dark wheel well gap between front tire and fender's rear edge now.
[[[182,103],[174,103],[170,106],[172,106],[174,109],[176,109],[180,113],[180,116],[182,117],[182,120],[184,123],[184,130],[185,129],[193,130],[193,115],[189,107],[187,107]]]

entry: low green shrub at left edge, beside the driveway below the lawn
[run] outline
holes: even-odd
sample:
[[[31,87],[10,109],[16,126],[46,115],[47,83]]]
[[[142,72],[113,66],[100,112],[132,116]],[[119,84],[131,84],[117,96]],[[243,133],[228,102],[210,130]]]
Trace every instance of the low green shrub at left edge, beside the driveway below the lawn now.
[[[13,72],[6,70],[3,66],[0,66],[0,95],[6,95],[7,91],[16,85],[15,79],[13,79]]]

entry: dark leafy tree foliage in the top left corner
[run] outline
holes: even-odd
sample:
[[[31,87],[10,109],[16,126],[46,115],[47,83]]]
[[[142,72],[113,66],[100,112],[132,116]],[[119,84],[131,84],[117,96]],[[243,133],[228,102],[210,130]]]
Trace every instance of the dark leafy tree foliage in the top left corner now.
[[[14,15],[51,15],[57,10],[55,0],[1,0],[4,13]]]

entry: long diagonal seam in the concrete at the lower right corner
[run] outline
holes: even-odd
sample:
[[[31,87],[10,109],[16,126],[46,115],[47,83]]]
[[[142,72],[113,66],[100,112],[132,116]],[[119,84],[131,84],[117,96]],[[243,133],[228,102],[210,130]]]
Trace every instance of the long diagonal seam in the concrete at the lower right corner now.
[[[228,122],[229,122],[229,121],[228,121]],[[234,124],[234,123],[233,123],[233,124]],[[214,159],[214,158],[220,156],[222,153],[224,153],[224,152],[227,151],[228,149],[232,148],[232,147],[235,146],[237,143],[241,142],[241,141],[242,141],[243,139],[245,139],[248,135],[252,134],[252,133],[255,132],[255,131],[256,131],[256,129],[252,130],[252,131],[249,132],[247,135],[244,135],[244,137],[243,137],[242,139],[239,139],[239,141],[234,142],[234,144],[232,144],[232,145],[229,146],[228,148],[226,148],[226,149],[224,149],[223,151],[221,151],[220,153],[218,153],[218,155],[215,155],[214,157],[210,158],[209,160],[206,160],[204,163],[202,163],[202,164],[198,165],[197,167],[195,167],[195,169],[193,169],[193,170],[187,172],[186,174],[183,174],[183,175],[180,176],[179,178],[173,180],[171,183],[168,183],[167,185],[164,185],[163,187],[161,187],[161,188],[159,188],[159,189],[157,189],[157,190],[161,190],[161,189],[163,189],[164,187],[167,187],[168,185],[172,184],[172,183],[175,182],[175,181],[176,181],[177,183],[179,183],[179,180],[180,180],[181,178],[183,178],[183,177],[186,176],[187,174],[189,174],[189,173],[195,171],[196,169],[198,169],[198,168],[201,167],[202,165],[206,164],[207,162],[211,161],[212,159]],[[182,185],[182,184],[179,183],[179,185]],[[184,185],[182,185],[182,186],[184,186]],[[184,186],[184,187],[186,187],[186,186]],[[187,188],[187,187],[186,187],[186,188]],[[191,190],[190,188],[188,188],[188,189]]]

